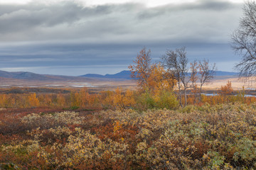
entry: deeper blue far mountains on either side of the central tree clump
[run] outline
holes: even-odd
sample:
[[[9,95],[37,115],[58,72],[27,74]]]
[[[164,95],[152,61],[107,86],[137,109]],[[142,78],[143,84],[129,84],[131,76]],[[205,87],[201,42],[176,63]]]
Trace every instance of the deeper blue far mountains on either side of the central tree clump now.
[[[235,77],[238,75],[237,72],[222,72],[222,71],[216,71],[215,72],[216,77],[228,77],[232,76]],[[97,79],[132,79],[131,78],[131,72],[129,70],[124,70],[122,72],[119,72],[117,74],[85,74],[80,77],[90,77],[90,78],[97,78]]]

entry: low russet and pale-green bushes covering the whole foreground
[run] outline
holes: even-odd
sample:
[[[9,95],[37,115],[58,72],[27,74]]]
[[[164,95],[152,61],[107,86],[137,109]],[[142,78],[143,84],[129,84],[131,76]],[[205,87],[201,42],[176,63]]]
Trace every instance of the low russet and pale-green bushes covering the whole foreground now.
[[[2,169],[256,169],[255,105],[1,113],[0,130]]]

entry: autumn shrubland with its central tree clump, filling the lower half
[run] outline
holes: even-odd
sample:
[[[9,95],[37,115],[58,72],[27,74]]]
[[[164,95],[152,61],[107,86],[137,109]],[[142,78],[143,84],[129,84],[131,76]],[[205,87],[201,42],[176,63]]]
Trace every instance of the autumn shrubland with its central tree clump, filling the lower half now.
[[[202,94],[213,69],[185,48],[129,68],[136,91],[0,94],[1,169],[256,169],[255,97]]]

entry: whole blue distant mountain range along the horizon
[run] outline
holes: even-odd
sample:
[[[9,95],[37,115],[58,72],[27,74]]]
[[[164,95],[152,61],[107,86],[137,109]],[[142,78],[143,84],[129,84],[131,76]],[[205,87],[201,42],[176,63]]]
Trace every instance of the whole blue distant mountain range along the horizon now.
[[[217,71],[216,77],[235,77],[238,73],[236,72],[221,72]],[[95,79],[105,80],[105,79],[132,79],[131,72],[124,70],[117,74],[85,74],[80,77],[70,77],[70,76],[57,76],[48,74],[35,74],[32,72],[5,72],[0,71],[0,80],[3,79],[21,79],[30,81],[95,81]]]

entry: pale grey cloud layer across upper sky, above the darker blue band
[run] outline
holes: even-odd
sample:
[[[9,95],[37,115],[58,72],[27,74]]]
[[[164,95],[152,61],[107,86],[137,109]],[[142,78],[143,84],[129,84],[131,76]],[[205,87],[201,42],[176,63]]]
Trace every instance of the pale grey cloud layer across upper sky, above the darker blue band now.
[[[86,7],[65,1],[51,6],[27,4],[6,8],[9,11],[5,10],[0,16],[0,38],[6,42],[76,39],[85,42],[132,42],[138,39],[146,42],[170,38],[203,41],[206,34],[200,38],[201,35],[196,33],[203,33],[205,29],[211,35],[222,34],[219,39],[224,40],[223,34],[238,18],[238,5],[226,1],[198,1],[196,4],[156,8],[146,8],[143,4]],[[220,27],[222,33],[219,33]]]

